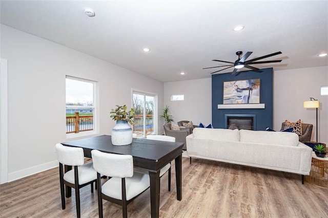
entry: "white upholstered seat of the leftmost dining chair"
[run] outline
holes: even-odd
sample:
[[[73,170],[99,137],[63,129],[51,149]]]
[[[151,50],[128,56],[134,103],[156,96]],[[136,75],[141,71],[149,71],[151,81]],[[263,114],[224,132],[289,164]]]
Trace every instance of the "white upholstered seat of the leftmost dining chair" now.
[[[85,184],[97,179],[97,172],[94,170],[92,162],[78,167],[78,184]],[[64,180],[74,184],[74,169],[64,175]]]

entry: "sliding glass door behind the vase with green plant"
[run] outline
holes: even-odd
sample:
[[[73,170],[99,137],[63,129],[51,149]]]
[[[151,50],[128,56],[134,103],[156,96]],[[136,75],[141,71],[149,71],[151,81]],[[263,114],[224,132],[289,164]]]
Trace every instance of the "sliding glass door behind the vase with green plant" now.
[[[135,110],[133,133],[138,138],[156,133],[156,96],[133,92],[133,108]]]

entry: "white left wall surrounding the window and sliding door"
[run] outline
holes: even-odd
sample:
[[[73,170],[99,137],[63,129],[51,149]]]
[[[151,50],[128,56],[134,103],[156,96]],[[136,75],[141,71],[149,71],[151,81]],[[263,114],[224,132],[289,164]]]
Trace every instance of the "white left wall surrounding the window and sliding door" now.
[[[57,166],[53,147],[68,141],[66,75],[98,81],[100,135],[115,125],[111,108],[131,106],[131,89],[157,93],[163,107],[163,83],[157,80],[5,25],[1,45],[1,57],[8,59],[9,181]]]

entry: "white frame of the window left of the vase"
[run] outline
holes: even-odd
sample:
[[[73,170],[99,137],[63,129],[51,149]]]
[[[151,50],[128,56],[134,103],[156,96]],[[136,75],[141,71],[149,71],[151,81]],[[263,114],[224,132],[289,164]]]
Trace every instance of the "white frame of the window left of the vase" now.
[[[65,77],[65,90],[66,90],[66,79],[81,81],[81,82],[89,82],[93,84],[93,106],[76,106],[76,105],[66,105],[65,100],[65,115],[66,115],[66,108],[77,108],[78,110],[90,110],[89,108],[93,108],[93,130],[79,132],[79,133],[66,133],[66,138],[77,138],[77,137],[83,137],[83,136],[91,136],[96,135],[99,133],[99,119],[98,119],[98,82],[90,79],[84,79],[74,76],[66,75]],[[65,91],[65,99],[66,99],[66,91]]]

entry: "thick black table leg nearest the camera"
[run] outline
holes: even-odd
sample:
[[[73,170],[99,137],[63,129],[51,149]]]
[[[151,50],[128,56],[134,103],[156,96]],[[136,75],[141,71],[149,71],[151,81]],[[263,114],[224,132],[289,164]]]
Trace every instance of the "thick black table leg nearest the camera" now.
[[[159,170],[149,171],[151,217],[159,217]]]

